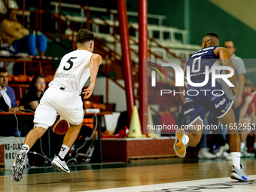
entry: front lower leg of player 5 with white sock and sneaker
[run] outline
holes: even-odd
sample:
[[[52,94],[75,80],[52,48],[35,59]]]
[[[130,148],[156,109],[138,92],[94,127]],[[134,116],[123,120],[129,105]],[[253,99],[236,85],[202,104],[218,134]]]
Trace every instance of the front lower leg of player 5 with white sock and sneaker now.
[[[72,125],[69,127],[69,130],[64,137],[62,148],[59,151],[59,154],[54,157],[52,165],[56,167],[61,172],[70,172],[69,167],[66,165],[64,158],[66,154],[69,153],[69,149],[72,147],[75,140],[78,138],[83,122],[79,125]]]

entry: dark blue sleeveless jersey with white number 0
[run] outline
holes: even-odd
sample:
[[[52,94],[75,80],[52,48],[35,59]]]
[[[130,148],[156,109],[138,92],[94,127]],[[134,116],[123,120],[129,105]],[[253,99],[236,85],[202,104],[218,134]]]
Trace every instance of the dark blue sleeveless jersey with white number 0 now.
[[[187,61],[187,66],[190,66],[190,80],[194,83],[203,82],[205,79],[206,66],[209,69],[213,65],[220,66],[221,62],[219,57],[215,55],[214,50],[217,46],[206,47],[202,50],[198,50]],[[209,72],[209,79],[211,79],[211,70]],[[187,74],[187,67],[186,67]]]

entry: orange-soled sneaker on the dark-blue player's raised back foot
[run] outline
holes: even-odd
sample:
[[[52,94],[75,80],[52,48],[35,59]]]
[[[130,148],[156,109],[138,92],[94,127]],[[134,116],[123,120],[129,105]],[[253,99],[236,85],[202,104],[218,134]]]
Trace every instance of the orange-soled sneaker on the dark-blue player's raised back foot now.
[[[178,157],[184,157],[186,154],[187,145],[184,130],[177,130],[175,134],[175,143],[173,145],[175,153]]]

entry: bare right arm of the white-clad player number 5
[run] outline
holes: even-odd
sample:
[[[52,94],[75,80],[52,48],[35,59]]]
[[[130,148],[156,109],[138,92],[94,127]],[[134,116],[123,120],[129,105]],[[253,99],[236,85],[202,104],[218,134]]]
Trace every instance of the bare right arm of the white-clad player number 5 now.
[[[90,58],[90,86],[84,90],[84,99],[88,99],[93,94],[99,65],[102,63],[102,56],[93,54]]]

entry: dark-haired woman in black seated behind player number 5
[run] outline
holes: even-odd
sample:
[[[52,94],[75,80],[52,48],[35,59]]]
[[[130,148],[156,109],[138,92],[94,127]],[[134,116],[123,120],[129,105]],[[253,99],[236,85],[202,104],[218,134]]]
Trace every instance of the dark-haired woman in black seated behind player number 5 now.
[[[20,100],[20,105],[23,105],[25,109],[35,111],[35,108],[38,107],[39,102],[44,95],[45,85],[44,76],[35,75],[31,81],[29,89],[26,90],[26,93]]]

